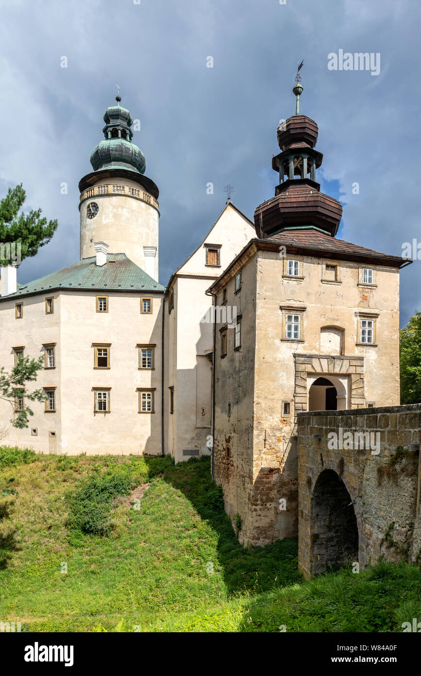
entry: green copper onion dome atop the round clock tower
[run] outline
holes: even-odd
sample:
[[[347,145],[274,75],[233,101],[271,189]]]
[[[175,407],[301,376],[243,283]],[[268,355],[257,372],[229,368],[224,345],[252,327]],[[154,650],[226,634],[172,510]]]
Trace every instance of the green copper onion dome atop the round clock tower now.
[[[117,105],[112,105],[105,111],[105,141],[100,141],[91,153],[92,168],[94,171],[121,168],[144,174],[145,155],[132,143],[132,116],[126,108],[120,106],[120,96],[116,97],[116,101]]]

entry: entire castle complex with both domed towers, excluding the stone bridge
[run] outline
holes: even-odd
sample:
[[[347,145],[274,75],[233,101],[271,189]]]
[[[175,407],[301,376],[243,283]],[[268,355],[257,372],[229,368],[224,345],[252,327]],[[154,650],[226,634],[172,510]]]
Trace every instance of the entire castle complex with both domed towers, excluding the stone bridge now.
[[[0,401],[5,443],[176,462],[211,454],[241,541],[296,535],[297,412],[399,403],[404,261],[337,239],[341,204],[320,192],[318,126],[299,114],[299,82],[294,91],[274,197],[254,222],[228,198],[166,287],[159,191],[130,112],[120,97],[107,109],[79,183],[80,260],[25,285],[1,269],[0,364],[45,364],[28,429],[7,426]],[[16,396],[16,410],[24,404]]]

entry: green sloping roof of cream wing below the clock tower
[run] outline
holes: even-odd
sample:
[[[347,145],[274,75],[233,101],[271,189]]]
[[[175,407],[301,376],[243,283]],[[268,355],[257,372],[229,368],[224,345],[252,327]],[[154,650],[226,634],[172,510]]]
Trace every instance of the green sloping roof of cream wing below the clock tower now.
[[[28,284],[18,284],[16,293],[3,296],[0,300],[21,297],[34,293],[45,293],[52,289],[94,291],[165,291],[165,287],[139,268],[126,254],[107,254],[107,263],[96,265],[96,257],[83,258],[77,263],[51,272]]]

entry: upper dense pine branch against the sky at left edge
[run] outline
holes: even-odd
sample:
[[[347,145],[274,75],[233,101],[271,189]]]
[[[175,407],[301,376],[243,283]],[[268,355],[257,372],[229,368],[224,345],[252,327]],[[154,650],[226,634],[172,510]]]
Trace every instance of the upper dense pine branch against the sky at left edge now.
[[[6,197],[0,200],[0,242],[2,244],[20,242],[20,258],[35,256],[39,247],[48,244],[57,230],[57,220],[41,218],[41,209],[31,209],[28,214],[19,214],[26,199],[22,183],[9,188]],[[10,261],[0,261],[9,265]]]

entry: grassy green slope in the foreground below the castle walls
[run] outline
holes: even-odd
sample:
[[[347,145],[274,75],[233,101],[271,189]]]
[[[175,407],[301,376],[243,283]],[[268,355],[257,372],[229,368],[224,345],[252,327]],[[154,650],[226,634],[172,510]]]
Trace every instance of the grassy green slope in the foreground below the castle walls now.
[[[416,566],[303,581],[295,540],[239,545],[208,458],[0,448],[0,621],[22,631],[401,631],[413,617]]]

